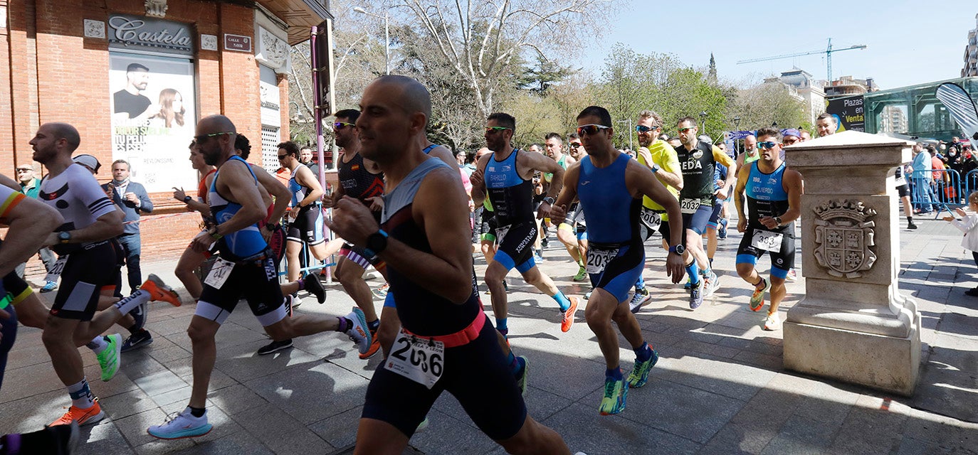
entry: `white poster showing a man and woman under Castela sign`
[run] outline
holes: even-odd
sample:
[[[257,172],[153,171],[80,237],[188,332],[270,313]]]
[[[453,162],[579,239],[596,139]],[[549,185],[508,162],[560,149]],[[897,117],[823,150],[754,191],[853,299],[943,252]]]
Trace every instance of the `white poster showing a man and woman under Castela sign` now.
[[[193,63],[121,52],[109,61],[112,160],[128,161],[130,179],[149,192],[197,187],[188,159],[197,123]]]

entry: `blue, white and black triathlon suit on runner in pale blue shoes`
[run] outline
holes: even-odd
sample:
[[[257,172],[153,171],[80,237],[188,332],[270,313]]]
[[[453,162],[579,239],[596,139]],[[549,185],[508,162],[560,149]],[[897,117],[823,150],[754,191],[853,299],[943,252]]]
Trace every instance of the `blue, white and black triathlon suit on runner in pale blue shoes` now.
[[[240,161],[247,166],[247,162],[240,156],[232,156],[223,166],[234,161]],[[250,166],[247,170],[255,185],[259,185]],[[221,172],[218,170],[207,193],[210,213],[217,224],[226,223],[242,208],[241,204],[227,200],[218,192],[217,180],[220,177]],[[217,249],[220,252],[219,259],[204,279],[203,291],[194,314],[223,324],[231,311],[238,306],[238,301],[244,298],[262,326],[267,327],[285,318],[286,307],[282,288],[279,287],[277,261],[261,236],[258,224],[224,235],[217,241]],[[225,278],[222,281],[216,281],[222,274],[219,270],[224,271]]]

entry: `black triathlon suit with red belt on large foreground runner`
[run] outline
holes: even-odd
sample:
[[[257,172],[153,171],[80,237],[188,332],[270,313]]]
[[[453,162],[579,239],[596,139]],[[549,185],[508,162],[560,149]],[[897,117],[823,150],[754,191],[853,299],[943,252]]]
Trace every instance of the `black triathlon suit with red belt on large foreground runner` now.
[[[431,253],[424,229],[415,223],[412,204],[424,177],[443,166],[447,167],[440,159],[424,160],[384,195],[380,228],[390,238]],[[397,314],[403,327],[388,361],[395,356],[417,358],[419,352],[406,341],[414,337],[444,343],[444,361],[438,368],[440,377],[431,389],[394,373],[385,361],[367,388],[362,417],[386,422],[411,437],[438,395],[448,392],[489,437],[501,440],[518,433],[526,421],[526,405],[499,347],[496,329],[482,311],[474,269],[471,293],[462,304],[423,288],[397,269],[388,268],[387,277],[390,291],[397,294]]]

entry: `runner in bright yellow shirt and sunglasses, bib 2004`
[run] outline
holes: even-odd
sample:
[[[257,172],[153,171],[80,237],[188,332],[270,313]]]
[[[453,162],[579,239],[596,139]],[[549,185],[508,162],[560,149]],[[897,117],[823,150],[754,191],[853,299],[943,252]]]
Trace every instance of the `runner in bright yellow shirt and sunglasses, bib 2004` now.
[[[673,198],[677,199],[680,189],[683,189],[683,170],[680,168],[679,158],[676,157],[676,149],[657,138],[657,135],[662,132],[662,117],[651,110],[639,112],[635,131],[639,135],[639,150],[636,156],[639,164],[652,171],[659,183],[666,186]],[[672,231],[669,229],[669,214],[666,208],[651,197],[644,196],[639,219],[642,222],[639,226],[642,241],[648,240],[652,233],[658,230],[662,233],[663,248],[668,249],[667,242],[672,238]],[[635,282],[635,295],[628,303],[629,309],[638,312],[651,297],[645,289],[645,279],[640,272],[639,279]]]

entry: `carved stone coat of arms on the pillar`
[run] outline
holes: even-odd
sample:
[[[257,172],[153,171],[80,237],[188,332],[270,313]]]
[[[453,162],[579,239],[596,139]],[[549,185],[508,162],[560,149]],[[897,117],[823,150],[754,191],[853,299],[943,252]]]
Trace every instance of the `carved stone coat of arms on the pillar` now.
[[[872,268],[876,254],[873,228],[867,219],[876,211],[855,200],[830,200],[815,209],[815,259],[832,276],[858,278]]]

